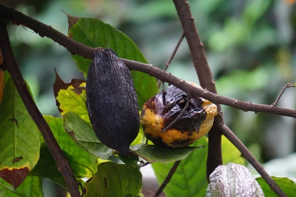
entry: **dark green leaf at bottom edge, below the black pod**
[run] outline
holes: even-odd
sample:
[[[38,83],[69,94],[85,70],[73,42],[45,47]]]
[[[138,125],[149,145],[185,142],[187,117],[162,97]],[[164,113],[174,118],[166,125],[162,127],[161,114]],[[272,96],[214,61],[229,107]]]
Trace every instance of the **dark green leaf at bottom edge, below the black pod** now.
[[[142,174],[131,165],[105,162],[98,165],[98,172],[85,185],[83,197],[139,196],[142,188]]]

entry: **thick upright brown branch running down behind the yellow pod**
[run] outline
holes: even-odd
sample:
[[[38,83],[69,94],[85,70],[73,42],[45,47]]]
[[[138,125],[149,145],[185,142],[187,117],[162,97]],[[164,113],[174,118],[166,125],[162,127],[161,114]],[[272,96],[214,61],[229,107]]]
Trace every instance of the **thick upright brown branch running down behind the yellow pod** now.
[[[184,35],[186,37],[193,65],[198,75],[198,79],[201,87],[206,88],[212,93],[217,94],[215,81],[212,71],[208,64],[206,54],[204,51],[204,45],[197,33],[197,29],[194,24],[194,18],[190,11],[190,6],[187,0],[173,0],[180,18]],[[218,165],[222,164],[222,151],[221,151],[221,136],[219,131],[221,125],[223,125],[222,108],[220,104],[217,104],[218,116],[215,117],[214,125],[209,131],[209,146],[208,146],[208,158],[207,158],[207,177],[215,170]]]

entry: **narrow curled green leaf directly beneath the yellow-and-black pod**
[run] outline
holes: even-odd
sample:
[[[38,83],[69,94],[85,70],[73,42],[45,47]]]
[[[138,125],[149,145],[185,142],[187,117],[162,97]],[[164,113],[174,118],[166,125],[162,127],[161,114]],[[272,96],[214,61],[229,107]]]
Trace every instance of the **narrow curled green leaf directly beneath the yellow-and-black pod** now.
[[[130,150],[146,160],[149,163],[170,163],[182,160],[187,157],[192,151],[202,148],[203,146],[186,146],[183,148],[162,147],[148,144],[138,144],[131,146]]]

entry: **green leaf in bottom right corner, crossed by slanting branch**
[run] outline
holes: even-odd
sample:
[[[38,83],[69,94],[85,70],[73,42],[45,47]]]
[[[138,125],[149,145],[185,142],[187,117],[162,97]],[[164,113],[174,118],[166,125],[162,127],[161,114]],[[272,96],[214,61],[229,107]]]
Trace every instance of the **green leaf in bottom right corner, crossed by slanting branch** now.
[[[283,177],[271,177],[277,184],[278,186],[284,191],[284,193],[288,197],[295,197],[296,194],[296,183],[289,178]],[[270,186],[267,185],[267,183],[263,180],[262,177],[259,177],[256,179],[261,186],[265,197],[277,197],[277,195],[270,189]]]

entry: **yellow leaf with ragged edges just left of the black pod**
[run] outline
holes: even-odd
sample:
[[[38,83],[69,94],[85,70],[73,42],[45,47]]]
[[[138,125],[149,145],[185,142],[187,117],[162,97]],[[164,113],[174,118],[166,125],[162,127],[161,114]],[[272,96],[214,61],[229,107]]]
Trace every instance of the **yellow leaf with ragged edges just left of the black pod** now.
[[[85,83],[81,83],[79,87],[85,86]],[[86,92],[81,90],[81,93],[78,94],[77,91],[74,91],[75,88],[72,85],[66,90],[60,89],[56,99],[59,101],[59,108],[63,110],[61,112],[62,116],[66,113],[73,111],[75,114],[78,114],[84,121],[90,124],[88,117],[87,106],[86,106]]]

